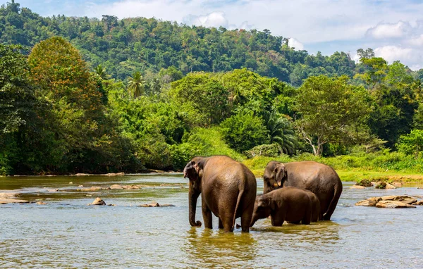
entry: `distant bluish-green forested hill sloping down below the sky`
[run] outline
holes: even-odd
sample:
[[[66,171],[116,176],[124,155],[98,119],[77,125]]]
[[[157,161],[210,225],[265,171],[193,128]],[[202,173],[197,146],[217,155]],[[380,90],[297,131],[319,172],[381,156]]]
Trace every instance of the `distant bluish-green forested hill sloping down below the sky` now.
[[[61,36],[82,53],[92,68],[101,64],[112,77],[124,80],[135,70],[158,73],[173,65],[184,74],[219,72],[238,68],[277,77],[294,86],[310,75],[355,74],[348,54],[309,55],[287,46],[284,37],[269,30],[226,30],[161,21],[103,15],[44,18],[11,1],[0,8],[0,43],[34,46]]]

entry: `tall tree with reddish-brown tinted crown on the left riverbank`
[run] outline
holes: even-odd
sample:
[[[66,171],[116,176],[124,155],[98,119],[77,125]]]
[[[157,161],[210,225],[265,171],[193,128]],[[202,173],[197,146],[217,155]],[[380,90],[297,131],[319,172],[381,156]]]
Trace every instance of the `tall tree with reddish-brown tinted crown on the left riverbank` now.
[[[79,170],[104,156],[110,133],[103,124],[103,94],[78,52],[61,37],[37,44],[28,57],[30,75],[37,85],[37,96],[47,102],[49,111],[40,115],[51,131],[49,170]],[[47,165],[47,163],[42,163]],[[44,166],[45,167],[45,166]]]

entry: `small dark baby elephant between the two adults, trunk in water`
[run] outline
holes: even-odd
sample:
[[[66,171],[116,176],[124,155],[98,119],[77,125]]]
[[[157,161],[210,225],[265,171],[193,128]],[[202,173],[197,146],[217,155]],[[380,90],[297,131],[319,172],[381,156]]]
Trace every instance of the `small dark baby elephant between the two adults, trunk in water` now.
[[[260,218],[271,215],[271,225],[290,223],[310,224],[319,220],[320,202],[317,196],[305,189],[283,187],[257,196],[250,227]]]

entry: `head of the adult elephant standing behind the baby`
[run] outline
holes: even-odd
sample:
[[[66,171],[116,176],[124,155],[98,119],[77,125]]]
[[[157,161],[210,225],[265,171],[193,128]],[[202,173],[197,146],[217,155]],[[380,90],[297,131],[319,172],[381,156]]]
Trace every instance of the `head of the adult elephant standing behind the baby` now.
[[[283,186],[283,182],[288,178],[285,165],[277,161],[271,161],[266,165],[263,175],[263,194],[278,189]]]

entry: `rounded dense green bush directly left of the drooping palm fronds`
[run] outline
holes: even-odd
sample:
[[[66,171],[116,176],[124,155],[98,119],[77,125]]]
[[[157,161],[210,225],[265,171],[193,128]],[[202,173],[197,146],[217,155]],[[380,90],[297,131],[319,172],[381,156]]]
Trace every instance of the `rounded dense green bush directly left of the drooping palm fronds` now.
[[[229,146],[238,152],[268,142],[268,131],[263,126],[262,118],[246,111],[239,111],[221,123],[223,137]]]

